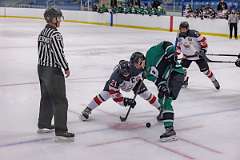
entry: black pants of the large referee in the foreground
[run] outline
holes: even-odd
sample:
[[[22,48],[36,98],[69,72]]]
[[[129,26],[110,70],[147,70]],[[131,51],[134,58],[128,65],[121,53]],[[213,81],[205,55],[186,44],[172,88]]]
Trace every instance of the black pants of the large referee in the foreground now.
[[[38,127],[50,127],[54,116],[55,132],[67,131],[68,101],[62,70],[38,65],[38,76],[41,87]]]

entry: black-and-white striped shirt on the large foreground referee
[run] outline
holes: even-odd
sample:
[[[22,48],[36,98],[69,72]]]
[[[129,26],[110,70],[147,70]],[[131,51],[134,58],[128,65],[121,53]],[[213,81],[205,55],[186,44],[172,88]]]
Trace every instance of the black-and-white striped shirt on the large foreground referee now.
[[[46,25],[38,36],[38,64],[54,68],[62,67],[64,70],[69,69],[64,57],[62,35],[50,25]]]

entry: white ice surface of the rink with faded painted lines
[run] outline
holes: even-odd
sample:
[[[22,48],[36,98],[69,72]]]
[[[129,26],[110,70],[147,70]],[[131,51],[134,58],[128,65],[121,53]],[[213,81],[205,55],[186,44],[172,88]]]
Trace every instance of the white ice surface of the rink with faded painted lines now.
[[[126,123],[119,116],[127,109],[112,100],[94,110],[91,121],[79,120],[119,60],[162,40],[174,41],[176,33],[169,32],[63,23],[60,31],[71,69],[66,80],[68,127],[76,137],[72,143],[56,143],[53,133],[37,134],[37,37],[44,25],[42,20],[0,19],[0,160],[240,159],[240,68],[234,64],[210,64],[220,91],[192,64],[189,88],[173,104],[176,142],[159,141],[164,127],[156,122],[158,111],[139,97]],[[209,53],[240,52],[237,40],[207,38]],[[157,93],[151,82],[145,83]],[[152,127],[145,128],[146,122]]]

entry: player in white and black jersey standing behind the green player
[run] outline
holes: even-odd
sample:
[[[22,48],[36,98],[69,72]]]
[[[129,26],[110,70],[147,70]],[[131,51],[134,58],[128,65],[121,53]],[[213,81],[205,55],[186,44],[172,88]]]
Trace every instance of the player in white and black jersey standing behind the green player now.
[[[212,71],[209,69],[205,59],[207,52],[207,41],[196,30],[190,30],[188,22],[181,22],[179,26],[180,33],[177,36],[176,45],[177,53],[183,54],[181,65],[185,69],[185,79],[183,87],[187,87],[188,79],[187,68],[194,61],[197,63],[201,72],[203,72],[214,84],[216,89],[220,89],[220,85]]]

